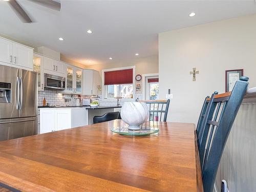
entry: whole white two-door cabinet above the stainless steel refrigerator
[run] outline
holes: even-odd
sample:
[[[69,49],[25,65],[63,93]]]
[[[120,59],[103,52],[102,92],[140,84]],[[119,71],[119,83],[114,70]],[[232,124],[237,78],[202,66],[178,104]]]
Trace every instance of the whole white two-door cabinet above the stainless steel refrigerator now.
[[[33,49],[0,37],[0,61],[7,66],[33,70]]]

